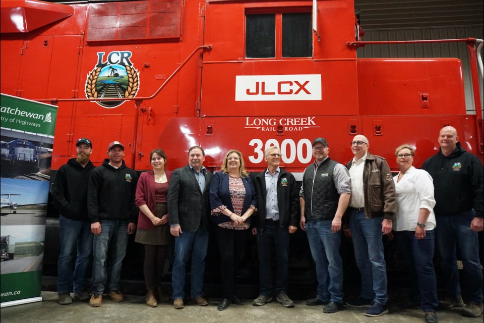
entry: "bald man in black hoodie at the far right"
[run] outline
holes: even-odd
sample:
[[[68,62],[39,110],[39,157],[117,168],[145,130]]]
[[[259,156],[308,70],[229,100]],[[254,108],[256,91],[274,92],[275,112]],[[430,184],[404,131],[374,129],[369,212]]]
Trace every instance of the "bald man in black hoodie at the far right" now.
[[[480,160],[462,148],[457,130],[439,133],[440,150],[422,165],[434,179],[436,246],[441,258],[445,297],[440,306],[464,306],[462,315],[482,315],[482,270],[477,232],[483,226],[483,171]],[[463,264],[461,293],[456,249]]]

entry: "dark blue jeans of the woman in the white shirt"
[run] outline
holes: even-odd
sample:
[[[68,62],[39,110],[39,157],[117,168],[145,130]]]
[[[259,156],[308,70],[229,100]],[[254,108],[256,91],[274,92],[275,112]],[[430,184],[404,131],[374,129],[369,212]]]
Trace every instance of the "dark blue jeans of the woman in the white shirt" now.
[[[398,249],[408,265],[410,295],[420,295],[423,311],[435,312],[439,306],[434,271],[435,230],[426,231],[425,235],[417,240],[415,231],[395,232]]]

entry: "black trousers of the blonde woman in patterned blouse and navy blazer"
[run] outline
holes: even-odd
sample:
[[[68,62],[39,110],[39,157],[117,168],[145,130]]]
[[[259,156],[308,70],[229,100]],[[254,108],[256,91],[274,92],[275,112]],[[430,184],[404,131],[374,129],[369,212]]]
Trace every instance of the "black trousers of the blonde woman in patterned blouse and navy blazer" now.
[[[249,229],[231,230],[214,226],[214,231],[220,253],[223,298],[231,300],[235,293],[235,277],[240,260],[244,256]]]

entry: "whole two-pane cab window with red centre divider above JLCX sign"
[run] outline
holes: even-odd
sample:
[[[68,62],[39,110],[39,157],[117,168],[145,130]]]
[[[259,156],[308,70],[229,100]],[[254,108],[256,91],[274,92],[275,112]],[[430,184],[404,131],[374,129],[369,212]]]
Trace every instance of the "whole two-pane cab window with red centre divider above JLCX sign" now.
[[[313,56],[310,12],[247,14],[246,58]]]

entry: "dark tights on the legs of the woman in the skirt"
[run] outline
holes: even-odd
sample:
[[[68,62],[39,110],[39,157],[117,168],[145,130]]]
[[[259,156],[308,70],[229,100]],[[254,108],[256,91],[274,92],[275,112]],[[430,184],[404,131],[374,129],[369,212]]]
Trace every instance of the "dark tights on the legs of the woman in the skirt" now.
[[[160,285],[167,246],[150,244],[145,244],[144,246],[145,261],[143,265],[143,274],[145,275],[145,284],[147,289],[153,289],[155,286]]]

